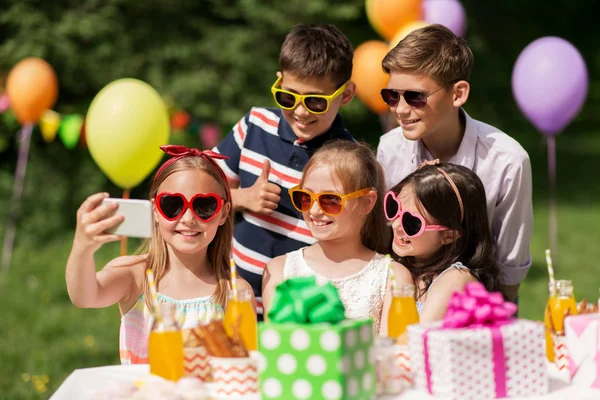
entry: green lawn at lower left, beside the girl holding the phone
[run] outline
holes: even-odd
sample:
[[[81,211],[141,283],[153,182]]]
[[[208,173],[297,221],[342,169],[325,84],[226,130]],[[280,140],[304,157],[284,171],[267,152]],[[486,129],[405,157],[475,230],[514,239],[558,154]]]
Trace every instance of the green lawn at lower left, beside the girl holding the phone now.
[[[0,399],[46,399],[76,368],[119,363],[118,307],[78,309],[69,300],[72,238],[63,233],[39,249],[21,243],[0,275]],[[118,254],[118,244],[107,245],[96,262]]]

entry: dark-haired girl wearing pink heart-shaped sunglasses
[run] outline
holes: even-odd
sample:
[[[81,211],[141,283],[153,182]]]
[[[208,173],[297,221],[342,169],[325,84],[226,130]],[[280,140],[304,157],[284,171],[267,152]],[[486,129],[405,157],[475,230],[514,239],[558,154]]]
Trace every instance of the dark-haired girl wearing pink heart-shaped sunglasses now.
[[[415,281],[420,322],[442,319],[452,293],[470,281],[499,289],[485,190],[474,172],[426,161],[386,193],[383,206],[392,250]]]

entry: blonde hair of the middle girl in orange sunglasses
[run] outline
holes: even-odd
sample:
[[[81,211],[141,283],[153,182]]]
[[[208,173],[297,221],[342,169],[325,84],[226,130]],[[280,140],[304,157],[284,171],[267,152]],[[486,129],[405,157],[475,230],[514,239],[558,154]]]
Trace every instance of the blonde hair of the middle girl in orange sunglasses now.
[[[346,194],[372,187],[377,192],[377,201],[366,216],[360,229],[360,238],[370,250],[388,253],[391,230],[385,223],[383,196],[385,180],[383,169],[371,148],[364,143],[336,140],[326,143],[308,160],[304,167],[300,187],[306,177],[319,165],[329,166],[342,182]]]

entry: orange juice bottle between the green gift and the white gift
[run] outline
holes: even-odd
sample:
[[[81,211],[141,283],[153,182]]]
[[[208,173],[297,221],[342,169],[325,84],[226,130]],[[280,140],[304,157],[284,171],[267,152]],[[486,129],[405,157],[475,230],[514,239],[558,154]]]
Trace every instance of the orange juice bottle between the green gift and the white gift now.
[[[410,324],[419,323],[419,313],[415,303],[415,286],[398,285],[392,289],[392,304],[388,316],[388,336],[397,339],[406,332]]]

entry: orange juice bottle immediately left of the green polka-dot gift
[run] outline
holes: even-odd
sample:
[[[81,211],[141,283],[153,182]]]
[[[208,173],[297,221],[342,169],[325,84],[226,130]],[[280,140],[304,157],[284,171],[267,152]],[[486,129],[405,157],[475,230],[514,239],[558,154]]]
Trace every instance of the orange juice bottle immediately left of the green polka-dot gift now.
[[[257,323],[256,314],[251,303],[252,293],[248,289],[239,288],[236,292],[237,296],[231,290],[228,293],[229,300],[223,319],[225,332],[227,335],[233,336],[235,331],[238,330],[246,349],[257,350]]]

